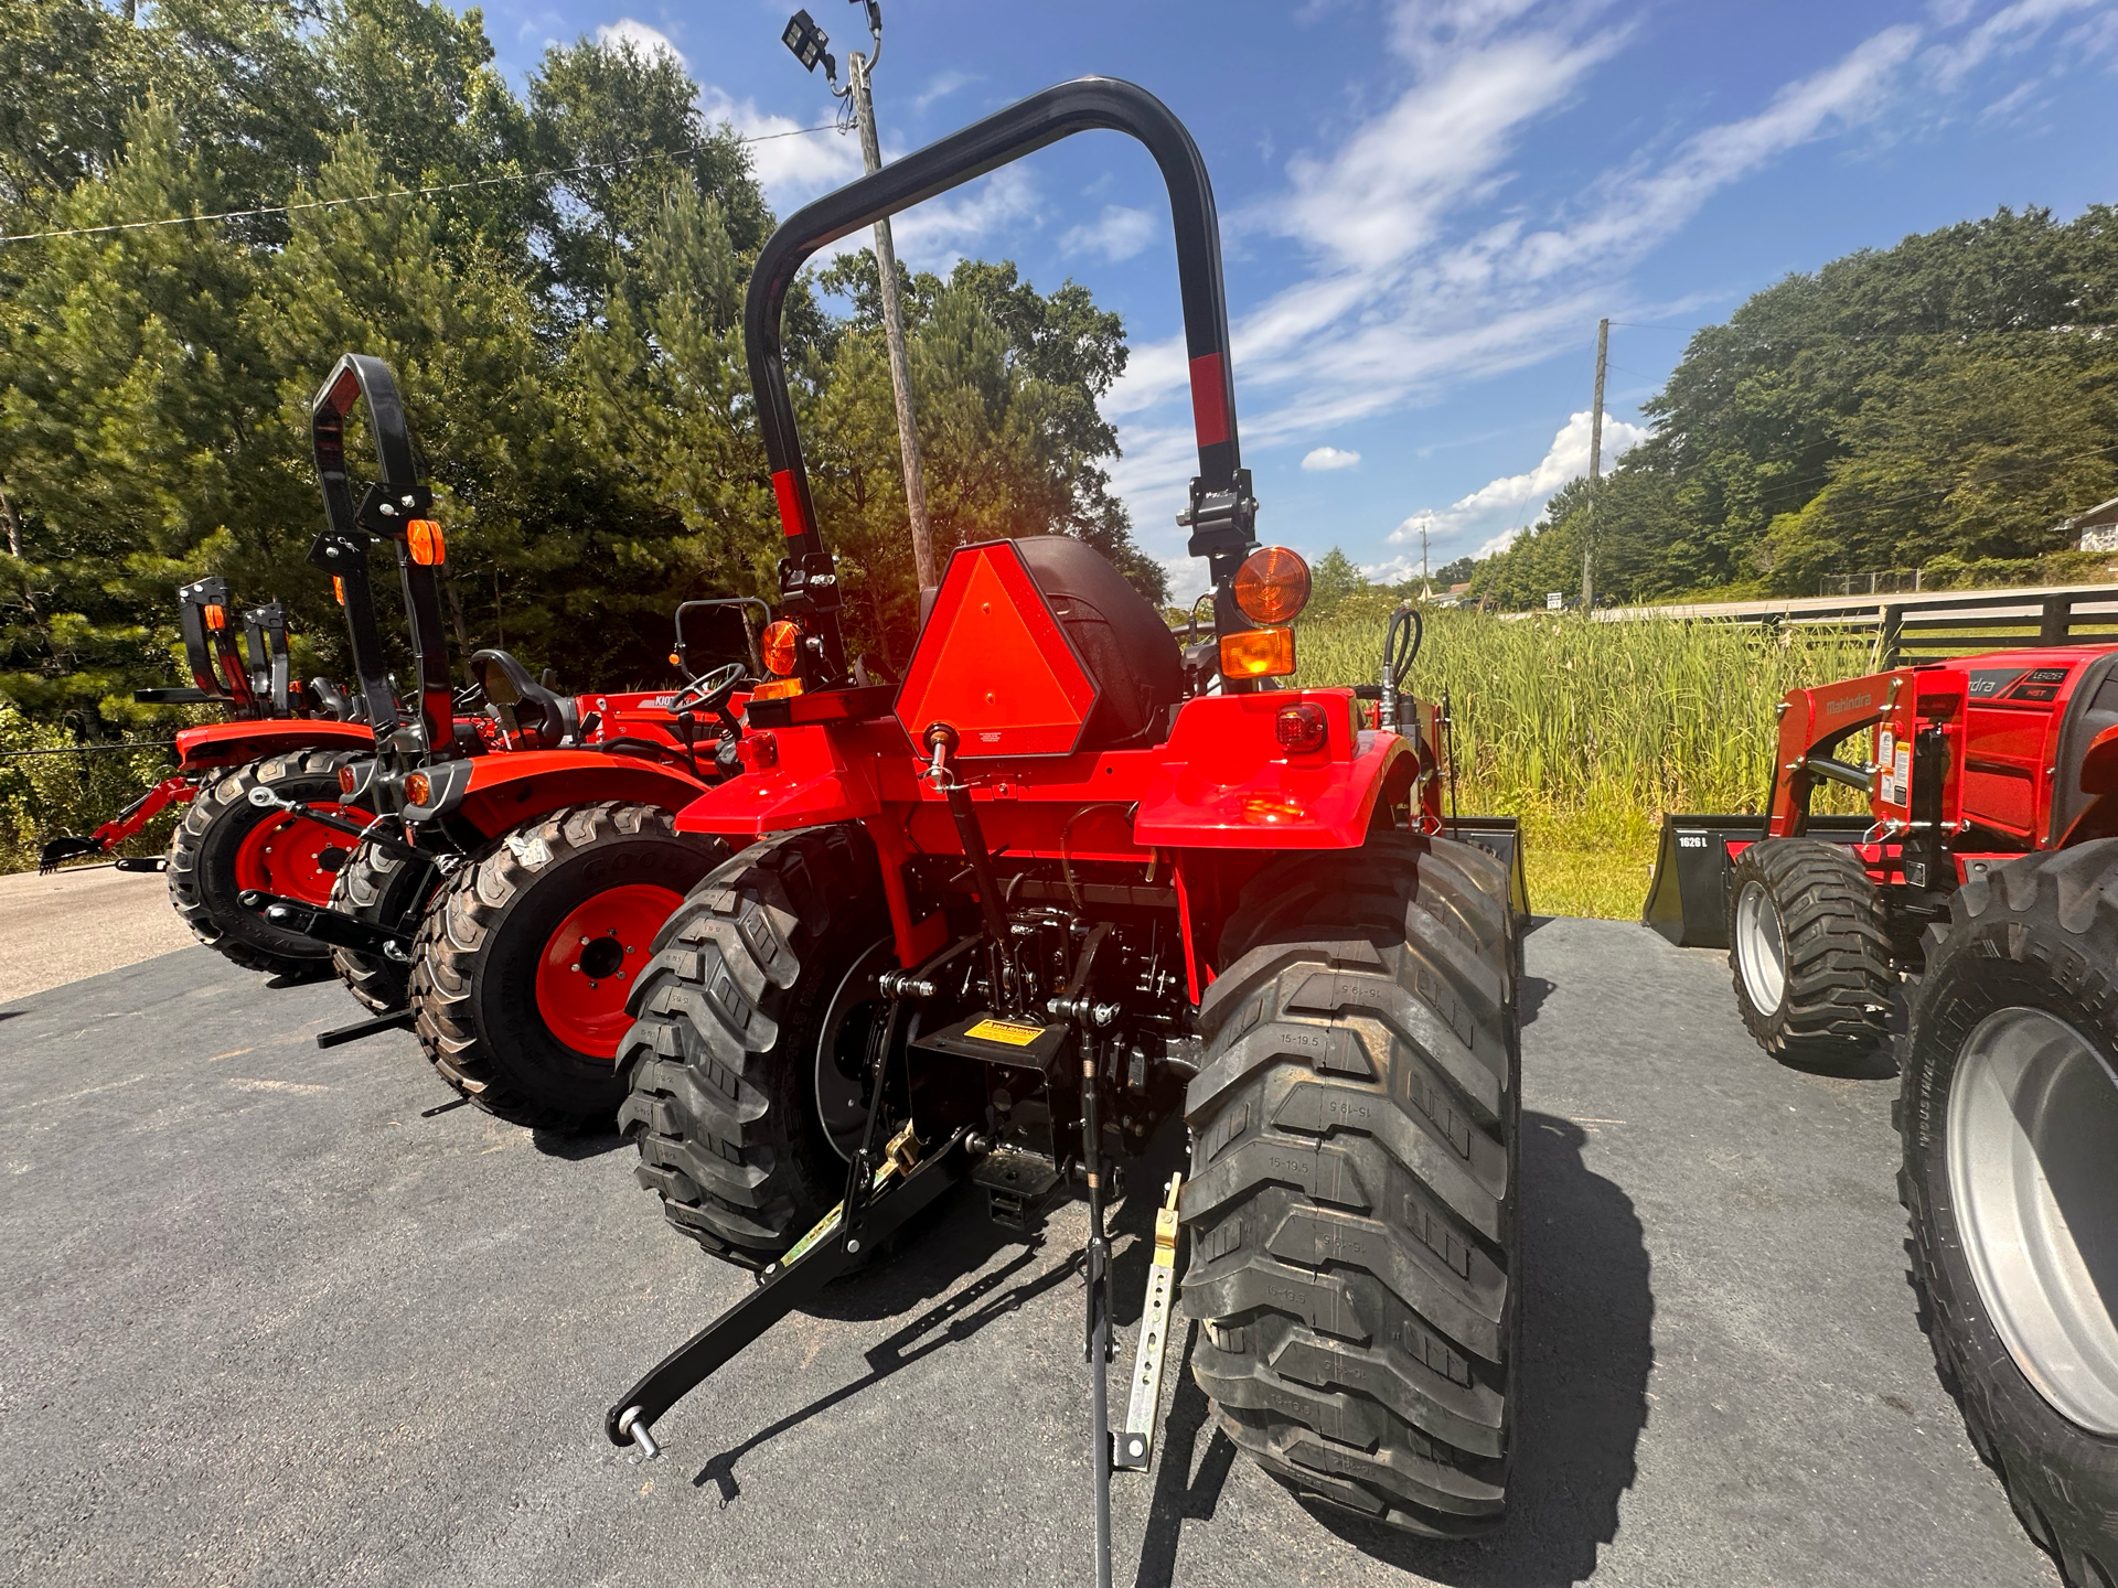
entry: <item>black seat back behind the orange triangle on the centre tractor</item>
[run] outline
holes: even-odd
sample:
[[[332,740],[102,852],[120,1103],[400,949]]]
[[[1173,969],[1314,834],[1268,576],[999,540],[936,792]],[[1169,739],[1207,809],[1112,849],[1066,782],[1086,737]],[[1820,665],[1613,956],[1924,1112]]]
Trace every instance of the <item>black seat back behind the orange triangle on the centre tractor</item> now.
[[[1184,699],[1184,665],[1163,614],[1084,540],[1023,536],[1015,546],[1097,686],[1099,699],[1078,747],[1142,747],[1165,739],[1169,707]]]

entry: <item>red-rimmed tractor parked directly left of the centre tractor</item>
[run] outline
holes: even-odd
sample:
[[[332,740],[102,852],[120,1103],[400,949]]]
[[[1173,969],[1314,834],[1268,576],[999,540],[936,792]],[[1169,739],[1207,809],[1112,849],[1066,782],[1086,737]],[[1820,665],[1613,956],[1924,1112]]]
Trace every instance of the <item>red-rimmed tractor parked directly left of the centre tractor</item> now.
[[[381,479],[356,495],[345,421],[360,402]],[[328,906],[275,889],[246,894],[246,906],[335,949],[373,1012],[320,1044],[411,1027],[479,1107],[551,1131],[610,1129],[625,1097],[614,1069],[631,1023],[625,997],[657,927],[729,855],[726,843],[680,836],[674,813],[731,773],[748,669],[731,663],[654,697],[563,697],[508,652],[481,650],[470,671],[485,716],[460,716],[436,576],[447,542],[390,368],[343,358],[311,428],[328,525],[309,559],[345,603],[373,750],[339,766],[330,792],[360,819],[252,794],[337,824],[352,845]],[[366,559],[377,540],[396,553],[411,625],[409,707],[375,627]],[[701,720],[720,724],[705,743]]]

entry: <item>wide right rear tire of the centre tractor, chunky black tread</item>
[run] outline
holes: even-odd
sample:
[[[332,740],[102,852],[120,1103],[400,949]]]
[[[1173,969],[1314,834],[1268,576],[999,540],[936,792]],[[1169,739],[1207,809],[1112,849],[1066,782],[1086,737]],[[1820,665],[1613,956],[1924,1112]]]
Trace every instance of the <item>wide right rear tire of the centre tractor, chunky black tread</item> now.
[[[1500,1527],[1521,1309],[1506,872],[1383,832],[1267,864],[1186,1095],[1192,1370],[1296,1493],[1430,1537]]]

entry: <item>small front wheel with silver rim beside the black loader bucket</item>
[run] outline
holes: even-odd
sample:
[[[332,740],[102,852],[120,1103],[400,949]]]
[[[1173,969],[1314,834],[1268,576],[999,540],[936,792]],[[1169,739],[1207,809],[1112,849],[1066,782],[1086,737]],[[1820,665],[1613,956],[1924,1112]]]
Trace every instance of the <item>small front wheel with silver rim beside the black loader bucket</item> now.
[[[1788,942],[1788,989],[1760,1010],[1737,961],[1737,902],[1762,883]],[[1743,1027],[1775,1059],[1845,1065],[1889,1042],[1898,970],[1874,881],[1860,855],[1821,838],[1764,838],[1728,872],[1728,974]]]

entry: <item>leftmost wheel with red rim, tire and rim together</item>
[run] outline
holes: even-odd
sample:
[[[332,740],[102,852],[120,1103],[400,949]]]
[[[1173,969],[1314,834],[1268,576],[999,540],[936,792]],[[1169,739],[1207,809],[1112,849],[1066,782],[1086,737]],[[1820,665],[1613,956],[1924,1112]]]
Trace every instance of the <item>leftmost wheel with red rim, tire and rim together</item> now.
[[[269,756],[208,779],[169,838],[169,904],[208,949],[244,970],[267,976],[322,976],[330,946],[273,925],[241,902],[258,889],[322,904],[345,866],[349,836],[250,802],[252,790],[316,805],[339,815],[364,815],[339,805],[339,766],[358,756],[303,750]]]

